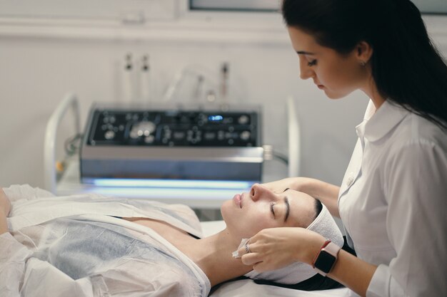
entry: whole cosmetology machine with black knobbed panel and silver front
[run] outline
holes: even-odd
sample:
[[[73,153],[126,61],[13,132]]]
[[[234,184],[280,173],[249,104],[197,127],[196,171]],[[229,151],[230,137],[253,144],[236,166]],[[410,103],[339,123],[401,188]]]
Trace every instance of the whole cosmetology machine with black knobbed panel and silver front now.
[[[261,143],[259,107],[93,105],[81,146],[81,182],[260,182]]]

